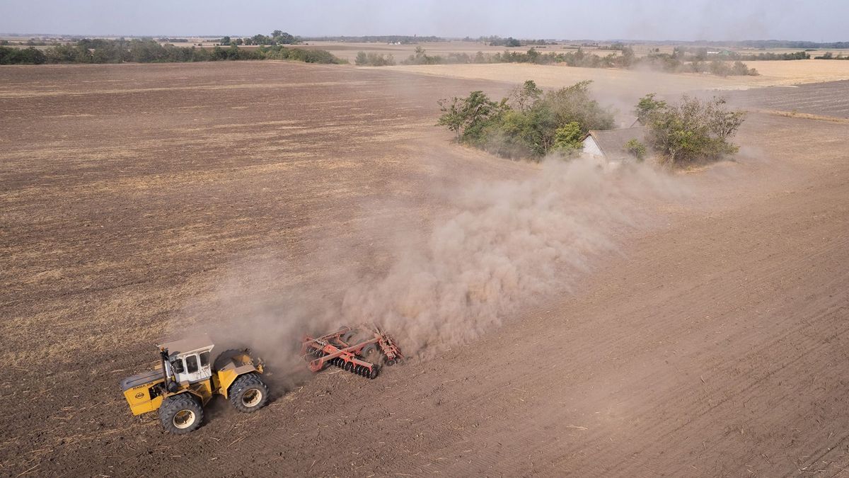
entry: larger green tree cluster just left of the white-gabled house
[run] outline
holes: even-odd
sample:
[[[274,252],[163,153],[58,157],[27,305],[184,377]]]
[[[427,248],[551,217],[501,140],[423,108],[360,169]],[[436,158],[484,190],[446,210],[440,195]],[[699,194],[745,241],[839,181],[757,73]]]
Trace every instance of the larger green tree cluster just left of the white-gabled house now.
[[[498,156],[571,154],[580,149],[590,129],[614,125],[613,114],[590,96],[590,83],[543,91],[529,80],[501,101],[482,91],[443,99],[437,124],[453,131],[458,142]]]

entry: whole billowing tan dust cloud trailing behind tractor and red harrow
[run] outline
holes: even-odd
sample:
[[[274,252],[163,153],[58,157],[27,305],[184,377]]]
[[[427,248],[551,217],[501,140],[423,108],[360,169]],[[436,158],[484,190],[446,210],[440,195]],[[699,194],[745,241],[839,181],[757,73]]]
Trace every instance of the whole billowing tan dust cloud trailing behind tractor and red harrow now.
[[[262,350],[295,381],[306,373],[297,340],[340,325],[376,322],[408,357],[435,356],[569,293],[600,258],[621,257],[629,231],[658,222],[661,205],[686,196],[675,176],[649,165],[548,159],[525,179],[455,191],[428,230],[394,231],[394,240],[380,242],[390,259],[378,271],[364,274],[343,261],[324,274],[288,265],[285,276],[312,276],[284,284],[284,293],[256,293],[250,284],[280,282],[283,266],[245,266],[242,278],[222,286],[218,299],[234,320],[220,335]]]

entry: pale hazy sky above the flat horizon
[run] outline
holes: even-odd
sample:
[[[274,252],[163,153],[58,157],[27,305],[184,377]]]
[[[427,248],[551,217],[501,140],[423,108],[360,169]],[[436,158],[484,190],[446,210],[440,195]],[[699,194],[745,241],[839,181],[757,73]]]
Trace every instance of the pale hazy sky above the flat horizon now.
[[[0,33],[849,40],[849,0],[0,0]]]

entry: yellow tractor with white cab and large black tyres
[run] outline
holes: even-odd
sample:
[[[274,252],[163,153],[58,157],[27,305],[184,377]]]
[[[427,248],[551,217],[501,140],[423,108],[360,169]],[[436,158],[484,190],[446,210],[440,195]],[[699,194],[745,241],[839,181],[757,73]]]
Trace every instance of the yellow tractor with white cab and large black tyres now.
[[[166,431],[182,435],[197,429],[212,395],[224,395],[236,410],[252,413],[268,401],[262,361],[250,350],[225,350],[210,361],[209,337],[160,344],[160,361],[149,372],[121,381],[133,415],[159,410]]]

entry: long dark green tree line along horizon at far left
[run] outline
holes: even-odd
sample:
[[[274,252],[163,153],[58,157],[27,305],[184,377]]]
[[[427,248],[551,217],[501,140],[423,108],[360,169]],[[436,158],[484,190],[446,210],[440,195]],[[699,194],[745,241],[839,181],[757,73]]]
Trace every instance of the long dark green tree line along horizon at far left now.
[[[57,45],[45,50],[0,47],[0,65],[41,65],[43,63],[171,63],[218,60],[296,60],[307,63],[346,63],[326,50],[286,48],[283,45],[245,49],[175,47],[154,40],[82,39],[76,44]]]

